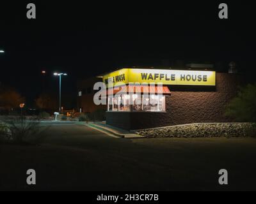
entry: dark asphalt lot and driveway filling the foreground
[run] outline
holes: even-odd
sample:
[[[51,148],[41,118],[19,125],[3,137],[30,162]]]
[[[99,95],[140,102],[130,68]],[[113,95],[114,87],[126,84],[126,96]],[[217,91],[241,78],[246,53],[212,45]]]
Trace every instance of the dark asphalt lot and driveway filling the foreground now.
[[[113,138],[76,122],[43,122],[40,145],[0,145],[0,190],[256,190],[253,138]],[[218,171],[228,170],[228,186]],[[26,171],[36,171],[36,185]]]

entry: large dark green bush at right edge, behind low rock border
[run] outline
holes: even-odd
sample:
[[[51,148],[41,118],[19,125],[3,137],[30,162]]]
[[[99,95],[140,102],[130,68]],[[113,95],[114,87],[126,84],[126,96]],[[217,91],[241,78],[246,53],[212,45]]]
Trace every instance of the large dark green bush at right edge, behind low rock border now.
[[[225,115],[236,122],[256,122],[256,84],[241,87],[227,106]]]

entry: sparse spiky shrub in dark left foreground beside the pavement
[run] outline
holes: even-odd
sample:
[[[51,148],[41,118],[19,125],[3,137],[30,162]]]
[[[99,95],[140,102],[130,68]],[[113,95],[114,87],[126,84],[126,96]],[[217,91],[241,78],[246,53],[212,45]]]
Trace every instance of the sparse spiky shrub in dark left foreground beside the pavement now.
[[[31,143],[39,133],[39,122],[35,118],[12,117],[4,120],[8,140],[12,143]]]

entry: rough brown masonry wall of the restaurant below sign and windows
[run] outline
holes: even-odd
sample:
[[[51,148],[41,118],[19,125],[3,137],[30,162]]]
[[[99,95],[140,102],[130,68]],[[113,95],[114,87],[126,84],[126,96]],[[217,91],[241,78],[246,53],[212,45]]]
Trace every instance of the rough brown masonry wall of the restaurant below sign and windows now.
[[[236,96],[238,85],[248,78],[243,75],[216,73],[216,87],[170,86],[166,96],[166,112],[110,112],[107,124],[124,129],[146,129],[178,124],[232,122],[225,117],[225,108]]]

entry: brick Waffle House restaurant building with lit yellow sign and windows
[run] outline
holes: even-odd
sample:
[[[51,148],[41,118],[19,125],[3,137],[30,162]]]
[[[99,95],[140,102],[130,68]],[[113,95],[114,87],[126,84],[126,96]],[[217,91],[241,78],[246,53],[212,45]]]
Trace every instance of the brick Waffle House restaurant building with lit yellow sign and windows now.
[[[225,117],[225,108],[244,79],[239,74],[205,70],[125,68],[113,71],[102,76],[106,84],[102,96],[108,103],[106,123],[131,130],[231,122],[232,119]],[[159,83],[162,87],[157,87]]]

